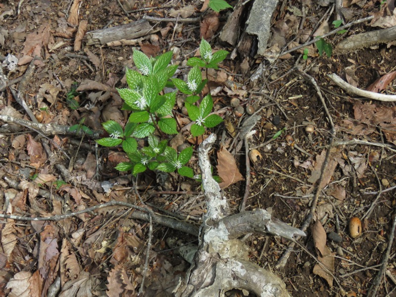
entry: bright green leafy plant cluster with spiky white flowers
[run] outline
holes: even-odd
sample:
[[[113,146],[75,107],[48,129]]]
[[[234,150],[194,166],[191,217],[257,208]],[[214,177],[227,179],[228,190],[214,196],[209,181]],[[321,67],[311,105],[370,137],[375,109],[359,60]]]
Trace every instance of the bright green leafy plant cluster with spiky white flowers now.
[[[195,121],[191,126],[192,136],[198,137],[205,133],[205,127],[212,128],[220,124],[223,119],[210,114],[213,108],[210,94],[205,97],[201,94],[207,79],[202,80],[200,68],[217,69],[218,63],[228,54],[226,50],[212,54],[210,45],[203,39],[199,49],[201,58],[188,60],[188,65],[192,68],[187,75],[187,82],[172,78],[177,70],[177,65],[169,65],[172,52],[165,52],[156,58],[148,58],[139,50],[133,52],[139,72],[127,68],[129,88],[117,89],[124,100],[123,109],[131,111],[128,122],[124,128],[112,120],[102,123],[109,136],[97,141],[104,147],[122,146],[129,161],[119,163],[115,167],[117,170],[131,170],[134,175],[150,169],[177,171],[180,175],[191,178],[194,176],[193,169],[185,166],[193,155],[193,148],[185,148],[178,153],[168,146],[168,135],[177,134],[180,130],[173,112],[177,90],[188,95],[185,106],[190,119]],[[166,86],[176,87],[177,90],[163,94]],[[138,149],[137,139],[145,138],[148,146]]]

